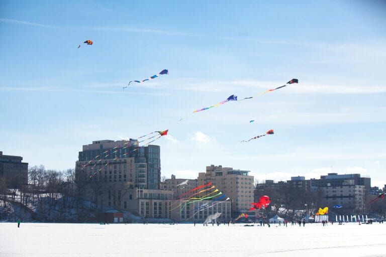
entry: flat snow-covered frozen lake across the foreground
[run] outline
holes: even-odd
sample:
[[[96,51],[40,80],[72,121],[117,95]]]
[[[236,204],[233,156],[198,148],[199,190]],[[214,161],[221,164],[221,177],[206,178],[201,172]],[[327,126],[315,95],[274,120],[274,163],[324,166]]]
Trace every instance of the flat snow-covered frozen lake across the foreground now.
[[[0,223],[0,256],[386,256],[386,224]]]

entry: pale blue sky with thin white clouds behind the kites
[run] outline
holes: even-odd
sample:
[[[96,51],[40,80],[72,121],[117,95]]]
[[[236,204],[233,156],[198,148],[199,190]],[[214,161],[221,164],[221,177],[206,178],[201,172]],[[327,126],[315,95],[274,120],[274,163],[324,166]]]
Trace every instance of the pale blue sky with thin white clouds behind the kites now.
[[[0,0],[0,56],[0,151],[29,167],[168,129],[167,178],[213,164],[386,184],[383,1]],[[192,114],[232,94],[256,97]]]

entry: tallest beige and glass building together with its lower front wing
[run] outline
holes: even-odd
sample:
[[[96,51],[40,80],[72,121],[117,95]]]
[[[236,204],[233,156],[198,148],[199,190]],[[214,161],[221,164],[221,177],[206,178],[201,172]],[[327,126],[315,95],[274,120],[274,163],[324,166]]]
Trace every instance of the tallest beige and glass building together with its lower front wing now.
[[[101,140],[84,145],[75,163],[78,185],[98,208],[132,211],[144,218],[169,218],[172,190],[160,188],[160,147],[137,140]]]

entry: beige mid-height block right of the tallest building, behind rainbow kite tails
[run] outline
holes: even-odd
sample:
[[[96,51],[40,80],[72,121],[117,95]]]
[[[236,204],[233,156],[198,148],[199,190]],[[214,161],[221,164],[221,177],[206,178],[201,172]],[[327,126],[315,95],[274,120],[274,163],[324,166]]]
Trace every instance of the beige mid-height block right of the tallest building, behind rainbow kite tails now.
[[[253,199],[253,176],[250,171],[234,170],[221,165],[207,166],[206,172],[199,173],[199,184],[212,182],[221,192],[232,200],[232,215],[249,210]]]

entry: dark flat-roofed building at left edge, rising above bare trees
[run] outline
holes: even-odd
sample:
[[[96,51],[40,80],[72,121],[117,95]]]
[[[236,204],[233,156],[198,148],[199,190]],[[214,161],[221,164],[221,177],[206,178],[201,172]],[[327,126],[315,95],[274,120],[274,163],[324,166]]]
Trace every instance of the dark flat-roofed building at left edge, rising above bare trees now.
[[[23,157],[3,155],[0,151],[0,177],[19,177],[21,181],[28,184],[28,163],[23,163]]]

